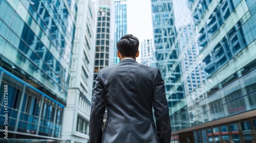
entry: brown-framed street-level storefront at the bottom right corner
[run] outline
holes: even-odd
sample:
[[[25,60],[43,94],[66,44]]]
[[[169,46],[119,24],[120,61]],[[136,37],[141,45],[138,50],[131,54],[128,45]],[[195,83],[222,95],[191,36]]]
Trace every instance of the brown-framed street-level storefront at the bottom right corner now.
[[[243,115],[233,116],[232,118],[240,118],[243,116],[248,116],[249,114],[254,114],[255,111]],[[234,122],[228,122],[226,120],[220,120],[217,122],[227,122],[224,124],[216,125],[216,123],[208,123],[207,125],[215,124],[214,126],[205,126],[200,129],[195,129],[191,131],[174,133],[172,135],[172,143],[178,142],[209,142],[209,143],[219,143],[219,142],[233,142],[233,143],[252,143],[256,141],[256,116],[244,118],[242,120],[237,120]],[[207,127],[206,127],[207,126]],[[189,129],[187,129],[189,130]]]

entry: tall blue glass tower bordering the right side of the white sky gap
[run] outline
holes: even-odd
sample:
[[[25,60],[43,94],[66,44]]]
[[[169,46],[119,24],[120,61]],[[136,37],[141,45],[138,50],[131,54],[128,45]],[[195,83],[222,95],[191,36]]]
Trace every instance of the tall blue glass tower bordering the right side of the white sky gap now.
[[[173,1],[152,0],[153,36],[156,47],[156,66],[159,68],[165,82],[166,98],[169,107],[174,106],[183,97],[172,96],[170,89],[179,86],[178,49],[175,44],[176,29],[174,26]],[[175,72],[171,72],[174,71]]]

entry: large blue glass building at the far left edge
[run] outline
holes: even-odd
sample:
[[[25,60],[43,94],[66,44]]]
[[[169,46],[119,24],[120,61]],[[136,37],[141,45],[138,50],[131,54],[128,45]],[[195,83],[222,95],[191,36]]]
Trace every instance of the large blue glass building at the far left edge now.
[[[0,13],[0,127],[9,139],[61,140],[76,1],[1,0]]]

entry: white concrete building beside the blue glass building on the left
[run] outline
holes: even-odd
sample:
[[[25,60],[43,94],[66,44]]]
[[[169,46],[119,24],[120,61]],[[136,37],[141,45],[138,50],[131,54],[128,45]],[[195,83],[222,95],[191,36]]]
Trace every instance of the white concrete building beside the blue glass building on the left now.
[[[62,139],[89,141],[97,9],[92,1],[77,1],[67,106],[63,114]]]

